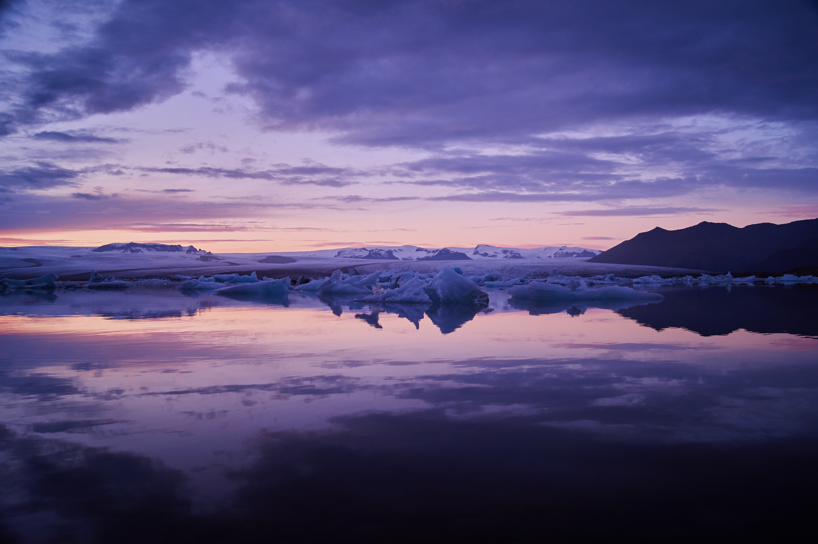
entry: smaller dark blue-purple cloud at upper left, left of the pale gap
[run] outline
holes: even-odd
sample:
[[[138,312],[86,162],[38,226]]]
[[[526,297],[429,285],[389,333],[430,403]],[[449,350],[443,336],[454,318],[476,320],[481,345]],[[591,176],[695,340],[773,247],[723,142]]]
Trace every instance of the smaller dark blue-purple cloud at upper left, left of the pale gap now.
[[[54,53],[4,51],[27,72],[7,83],[16,93],[0,133],[125,111],[182,91],[191,51],[218,27],[208,16],[213,2],[191,3],[123,2],[90,42]]]

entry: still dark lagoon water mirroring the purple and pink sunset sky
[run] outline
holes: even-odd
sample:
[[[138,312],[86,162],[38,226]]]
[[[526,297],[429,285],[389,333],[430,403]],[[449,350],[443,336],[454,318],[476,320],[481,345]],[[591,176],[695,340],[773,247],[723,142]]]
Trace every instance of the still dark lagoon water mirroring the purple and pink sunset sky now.
[[[0,541],[794,540],[818,289],[662,292],[0,296]]]

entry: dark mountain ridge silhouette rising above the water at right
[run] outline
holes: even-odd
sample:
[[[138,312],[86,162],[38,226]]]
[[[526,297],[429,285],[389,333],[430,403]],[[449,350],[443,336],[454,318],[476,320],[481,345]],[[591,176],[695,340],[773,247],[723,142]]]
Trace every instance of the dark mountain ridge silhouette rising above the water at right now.
[[[680,230],[636,234],[588,262],[717,272],[784,272],[818,265],[818,219],[743,229],[702,221]]]

